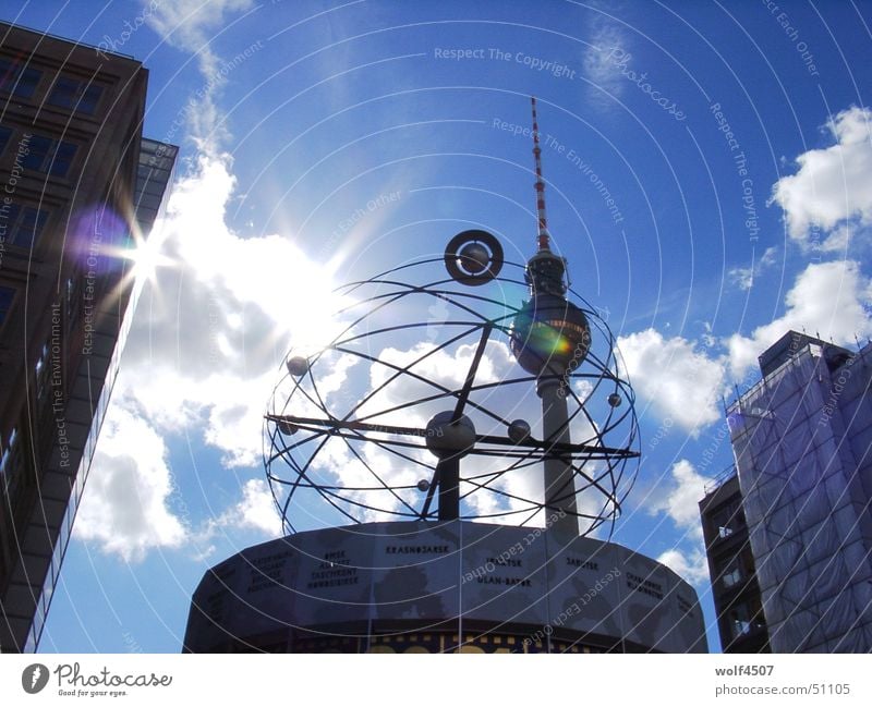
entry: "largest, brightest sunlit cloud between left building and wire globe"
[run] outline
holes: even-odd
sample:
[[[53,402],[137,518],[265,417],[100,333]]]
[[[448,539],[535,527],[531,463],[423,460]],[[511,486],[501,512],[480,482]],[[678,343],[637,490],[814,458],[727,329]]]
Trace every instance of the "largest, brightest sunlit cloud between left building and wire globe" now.
[[[289,237],[228,229],[233,186],[229,162],[207,157],[177,185],[161,225],[173,266],[143,295],[118,383],[158,432],[202,434],[231,467],[259,465],[278,363],[289,342],[328,339],[339,306]]]

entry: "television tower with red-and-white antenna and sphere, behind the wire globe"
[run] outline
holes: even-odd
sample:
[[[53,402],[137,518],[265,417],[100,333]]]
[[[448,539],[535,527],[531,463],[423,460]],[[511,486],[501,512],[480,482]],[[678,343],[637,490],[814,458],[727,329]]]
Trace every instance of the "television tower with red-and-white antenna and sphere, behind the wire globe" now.
[[[546,517],[558,512],[559,517],[549,528],[569,541],[579,535],[574,473],[570,458],[554,449],[566,449],[571,443],[566,402],[570,394],[569,374],[588,355],[591,329],[584,313],[566,298],[566,260],[550,249],[535,97],[531,102],[538,251],[526,264],[524,279],[530,285],[530,300],[512,325],[511,350],[521,367],[536,376],[536,393],[542,400],[542,438],[548,450],[543,462]]]

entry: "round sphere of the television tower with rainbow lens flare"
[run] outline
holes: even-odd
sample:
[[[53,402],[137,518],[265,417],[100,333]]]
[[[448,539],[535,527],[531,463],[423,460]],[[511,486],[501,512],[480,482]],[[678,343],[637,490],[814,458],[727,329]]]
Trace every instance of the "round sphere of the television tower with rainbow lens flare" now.
[[[526,373],[560,375],[576,369],[588,356],[591,328],[574,304],[540,292],[514,317],[510,345]]]

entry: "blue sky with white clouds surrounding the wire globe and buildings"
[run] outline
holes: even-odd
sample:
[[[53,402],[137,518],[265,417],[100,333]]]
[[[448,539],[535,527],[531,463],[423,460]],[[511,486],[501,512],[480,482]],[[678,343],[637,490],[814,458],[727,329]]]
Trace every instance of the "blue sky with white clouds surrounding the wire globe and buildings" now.
[[[872,334],[869,2],[13,4],[143,61],[145,134],[182,148],[43,650],[177,651],[203,572],[278,533],[261,417],[331,282],[467,228],[532,254],[532,94],[554,245],[638,395],[615,539],[713,622],[722,397],[788,328]]]

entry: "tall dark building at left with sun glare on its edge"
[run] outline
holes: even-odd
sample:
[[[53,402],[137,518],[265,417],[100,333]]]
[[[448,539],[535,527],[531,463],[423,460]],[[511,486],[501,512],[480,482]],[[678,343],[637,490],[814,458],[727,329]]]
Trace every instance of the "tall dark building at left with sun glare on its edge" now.
[[[35,650],[178,148],[147,71],[0,23],[0,650]]]

